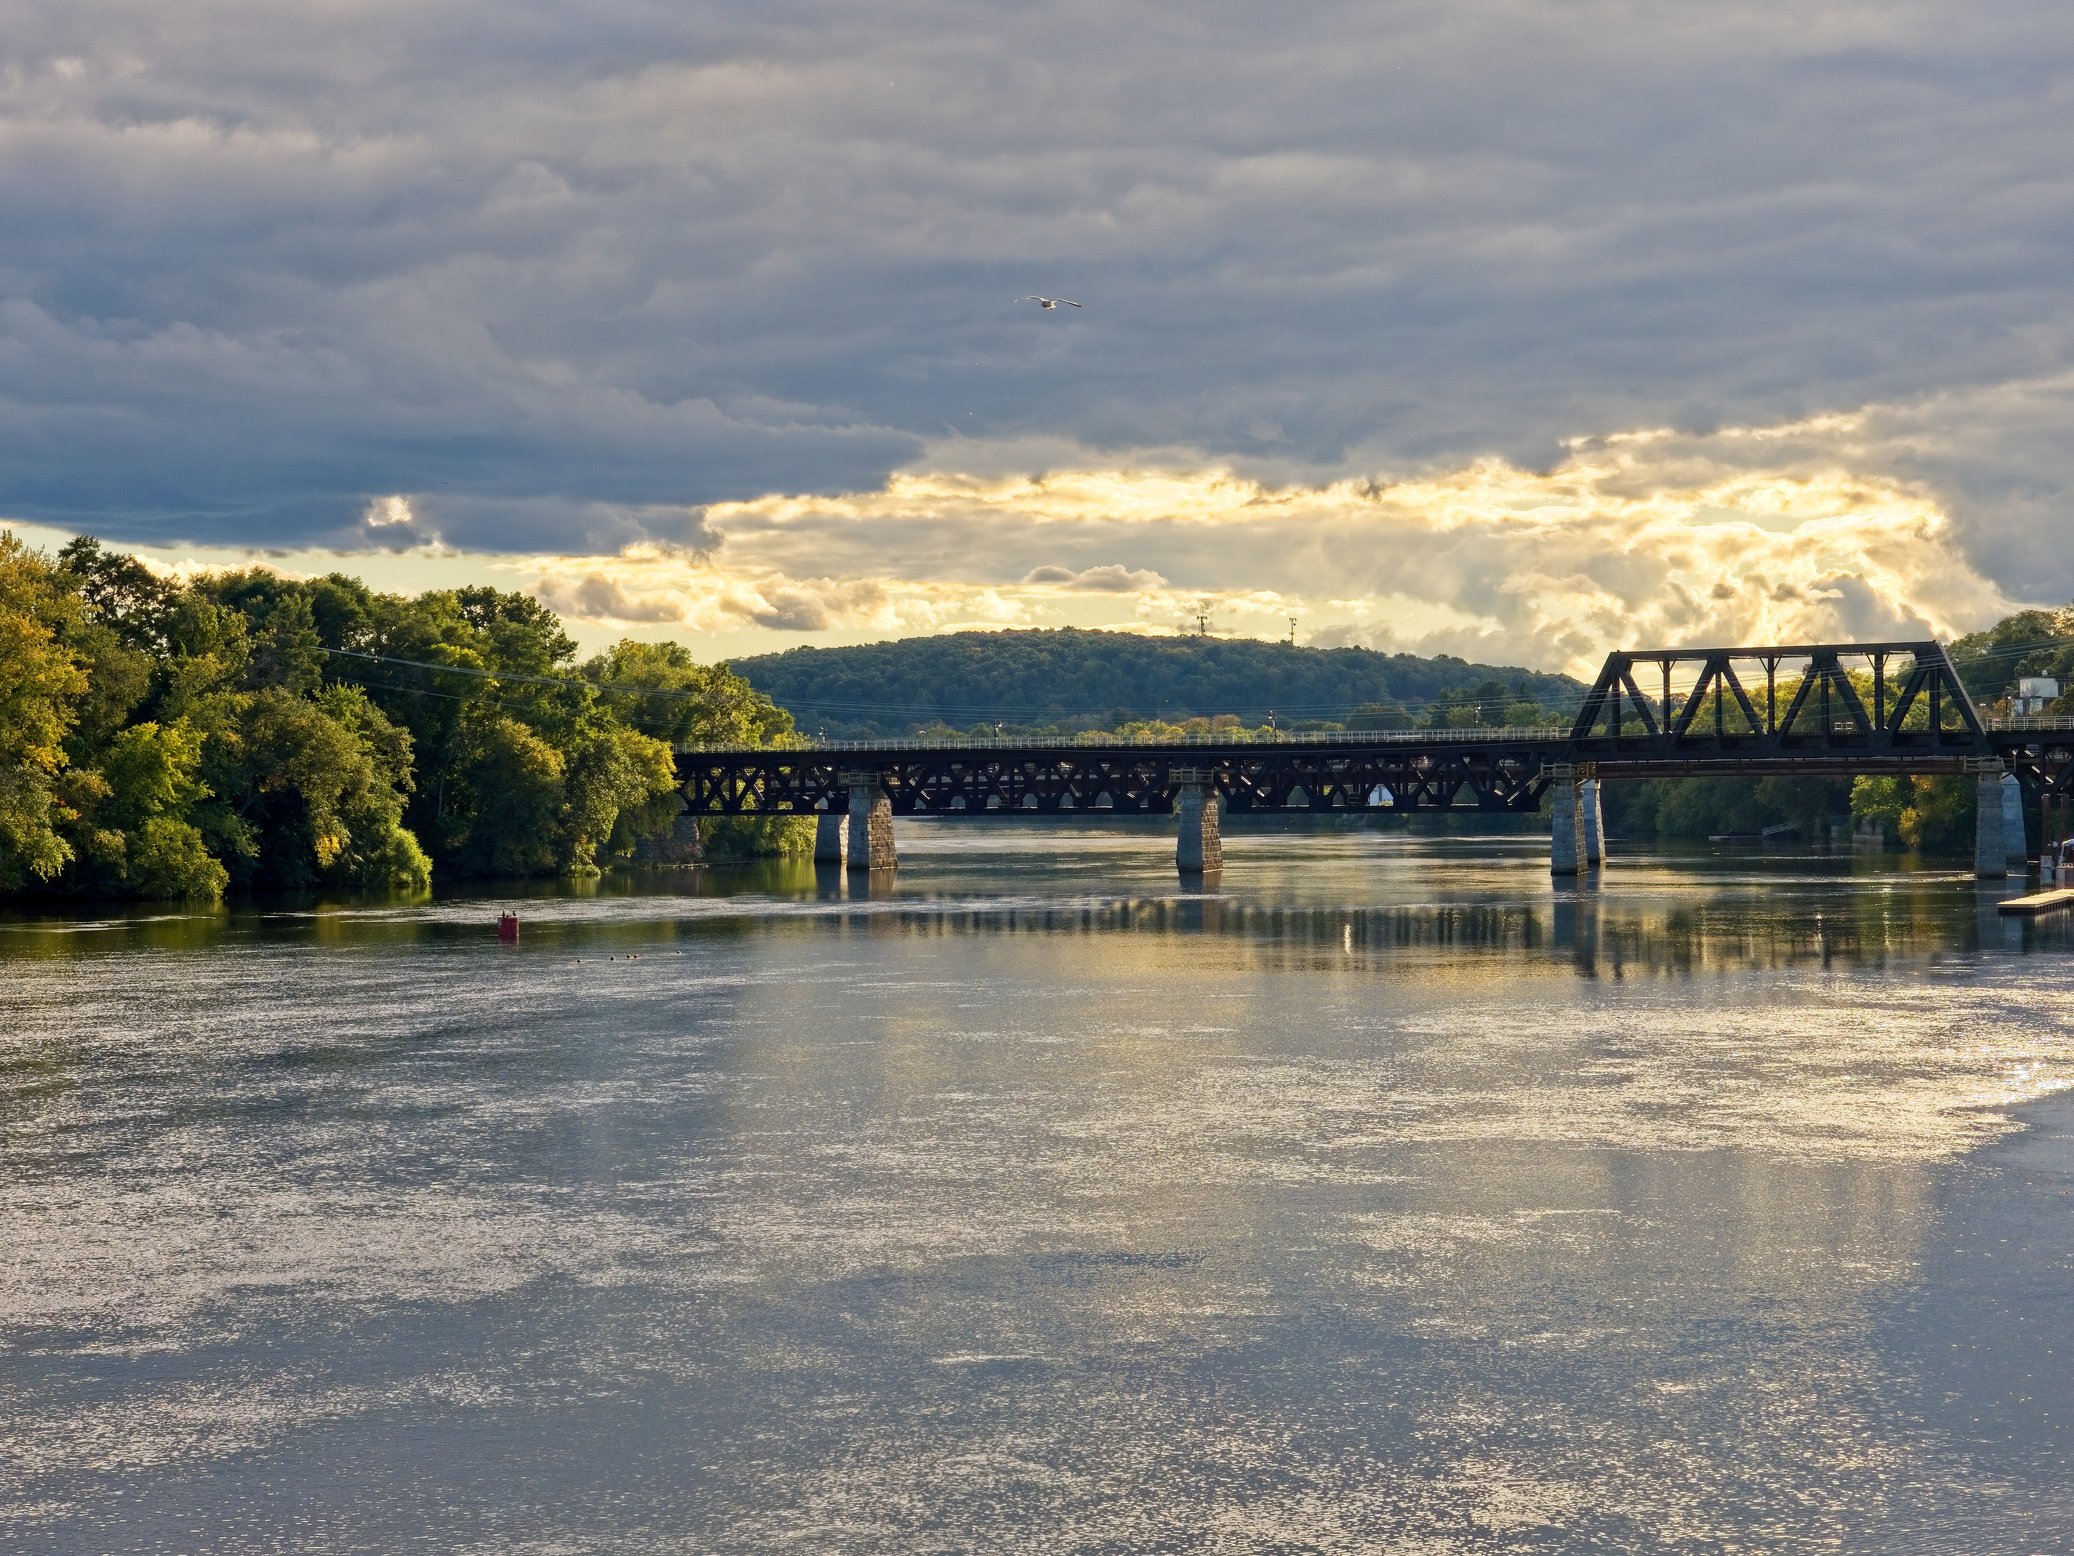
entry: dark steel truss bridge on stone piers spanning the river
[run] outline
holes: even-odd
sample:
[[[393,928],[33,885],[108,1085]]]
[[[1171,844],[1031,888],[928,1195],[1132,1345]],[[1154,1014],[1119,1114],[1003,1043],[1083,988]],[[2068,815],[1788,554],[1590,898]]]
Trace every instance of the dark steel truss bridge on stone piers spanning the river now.
[[[2064,830],[2074,720],[1985,722],[1939,643],[1611,654],[1568,730],[1452,728],[1172,743],[863,741],[678,753],[697,815],[821,817],[815,857],[892,869],[896,815],[1172,813],[1184,873],[1222,865],[1220,815],[1500,811],[1551,817],[1551,869],[1605,853],[1599,782],[1974,774],[1974,867]]]

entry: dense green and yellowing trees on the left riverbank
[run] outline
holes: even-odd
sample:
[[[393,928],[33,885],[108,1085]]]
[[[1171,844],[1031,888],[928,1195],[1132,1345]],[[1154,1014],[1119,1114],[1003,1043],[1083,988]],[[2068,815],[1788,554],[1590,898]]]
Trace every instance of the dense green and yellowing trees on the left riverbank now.
[[[0,892],[587,871],[676,826],[672,745],[790,728],[676,643],[579,664],[518,593],[180,583],[0,531]],[[798,824],[701,826],[722,853],[801,844]]]

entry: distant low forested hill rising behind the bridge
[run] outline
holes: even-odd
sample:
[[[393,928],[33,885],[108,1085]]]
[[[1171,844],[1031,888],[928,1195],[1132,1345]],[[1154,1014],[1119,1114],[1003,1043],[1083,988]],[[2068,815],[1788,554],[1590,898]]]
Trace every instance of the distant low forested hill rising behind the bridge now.
[[[1317,649],[1251,637],[1141,637],[1081,629],[948,633],[859,647],[796,647],[734,672],[832,737],[952,728],[1116,728],[1236,716],[1282,728],[1568,722],[1585,687],[1518,666]]]

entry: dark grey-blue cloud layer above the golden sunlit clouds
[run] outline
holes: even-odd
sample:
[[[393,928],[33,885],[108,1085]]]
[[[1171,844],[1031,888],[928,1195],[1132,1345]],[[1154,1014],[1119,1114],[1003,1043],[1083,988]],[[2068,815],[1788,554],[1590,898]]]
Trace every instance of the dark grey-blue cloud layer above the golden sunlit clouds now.
[[[1315,479],[1881,402],[1852,459],[2064,598],[2070,33],[2030,0],[15,6],[0,512],[361,546],[409,494],[450,546],[585,552],[946,438]]]

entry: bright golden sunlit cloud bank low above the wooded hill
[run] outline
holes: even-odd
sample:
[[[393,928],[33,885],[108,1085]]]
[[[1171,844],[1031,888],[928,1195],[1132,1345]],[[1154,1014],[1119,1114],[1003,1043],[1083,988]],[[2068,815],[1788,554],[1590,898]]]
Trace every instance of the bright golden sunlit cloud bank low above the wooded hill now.
[[[1116,627],[1452,651],[1587,670],[1611,647],[1952,637],[2010,606],[1933,494],[1844,463],[1860,417],[1578,438],[1273,485],[1222,467],[910,469],[879,490],[703,512],[699,554],[533,558],[599,627],[846,641]],[[948,452],[948,450],[940,450]],[[966,450],[969,452],[969,450]]]

